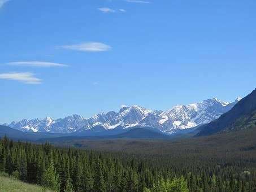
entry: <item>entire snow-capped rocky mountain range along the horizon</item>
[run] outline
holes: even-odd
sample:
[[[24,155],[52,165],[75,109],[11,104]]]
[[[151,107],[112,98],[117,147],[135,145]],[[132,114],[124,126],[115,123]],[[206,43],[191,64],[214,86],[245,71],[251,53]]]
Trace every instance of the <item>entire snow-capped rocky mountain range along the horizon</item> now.
[[[219,99],[207,99],[203,102],[175,106],[167,111],[147,110],[144,107],[133,105],[123,106],[119,112],[110,111],[85,118],[72,115],[63,119],[45,119],[13,121],[6,124],[11,128],[24,132],[73,133],[89,130],[95,126],[105,129],[130,128],[132,126],[151,126],[164,133],[175,133],[177,130],[193,128],[194,126],[209,123],[220,115],[231,110],[235,102],[223,102]]]

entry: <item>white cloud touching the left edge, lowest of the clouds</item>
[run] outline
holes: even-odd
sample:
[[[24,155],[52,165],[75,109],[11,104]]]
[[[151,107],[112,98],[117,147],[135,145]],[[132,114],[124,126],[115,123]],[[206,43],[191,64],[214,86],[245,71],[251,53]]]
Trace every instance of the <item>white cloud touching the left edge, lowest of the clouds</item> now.
[[[41,84],[42,80],[34,76],[31,72],[13,72],[13,73],[0,73],[0,78],[6,80],[15,80],[23,82],[24,84]]]

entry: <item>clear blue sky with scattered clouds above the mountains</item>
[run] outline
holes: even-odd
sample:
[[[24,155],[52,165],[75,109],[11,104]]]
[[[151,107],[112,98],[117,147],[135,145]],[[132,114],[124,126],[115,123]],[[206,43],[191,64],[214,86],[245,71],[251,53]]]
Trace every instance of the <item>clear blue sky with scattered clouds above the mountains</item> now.
[[[0,123],[244,97],[256,85],[255,7],[0,0]]]

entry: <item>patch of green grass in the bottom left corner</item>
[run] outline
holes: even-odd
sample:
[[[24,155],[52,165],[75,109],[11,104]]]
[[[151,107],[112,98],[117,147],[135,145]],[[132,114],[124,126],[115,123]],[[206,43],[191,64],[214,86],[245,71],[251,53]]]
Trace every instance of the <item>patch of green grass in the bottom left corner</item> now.
[[[0,175],[0,192],[51,192],[37,185],[26,184],[15,178]]]

